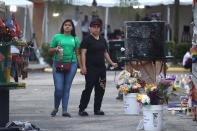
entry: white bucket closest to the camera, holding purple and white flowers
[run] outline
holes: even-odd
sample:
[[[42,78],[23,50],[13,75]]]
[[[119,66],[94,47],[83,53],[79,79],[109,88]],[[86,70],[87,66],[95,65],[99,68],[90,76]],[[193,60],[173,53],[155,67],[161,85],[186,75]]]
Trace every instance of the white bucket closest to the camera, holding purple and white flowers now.
[[[163,105],[143,106],[143,117],[145,131],[162,131]]]

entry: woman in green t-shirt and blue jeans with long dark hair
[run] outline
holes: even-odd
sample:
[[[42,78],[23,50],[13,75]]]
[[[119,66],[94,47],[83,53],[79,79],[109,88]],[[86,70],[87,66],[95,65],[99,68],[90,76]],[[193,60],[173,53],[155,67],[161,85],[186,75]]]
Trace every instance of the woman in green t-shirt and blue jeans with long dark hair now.
[[[59,57],[61,49],[63,56]],[[54,92],[54,109],[51,116],[55,116],[58,112],[60,102],[62,100],[62,116],[71,117],[67,112],[70,87],[77,71],[77,61],[81,67],[79,54],[79,40],[75,34],[75,27],[72,20],[65,20],[62,23],[60,33],[56,34],[50,44],[49,54],[54,54],[53,58],[53,80],[55,86]],[[70,72],[56,72],[55,63],[65,62],[71,63]]]

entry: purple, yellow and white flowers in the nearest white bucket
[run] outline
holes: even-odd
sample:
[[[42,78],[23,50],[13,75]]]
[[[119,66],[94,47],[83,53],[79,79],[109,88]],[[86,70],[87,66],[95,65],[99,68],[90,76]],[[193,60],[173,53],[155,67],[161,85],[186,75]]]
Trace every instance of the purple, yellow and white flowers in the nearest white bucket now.
[[[146,84],[144,94],[137,96],[137,101],[142,105],[160,105],[167,103],[170,95],[170,87],[173,80],[159,78],[157,84]]]

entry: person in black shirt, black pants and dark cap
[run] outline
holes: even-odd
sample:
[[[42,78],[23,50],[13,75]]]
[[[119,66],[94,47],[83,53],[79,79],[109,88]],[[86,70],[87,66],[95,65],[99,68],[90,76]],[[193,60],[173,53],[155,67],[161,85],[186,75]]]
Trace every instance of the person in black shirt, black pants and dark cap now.
[[[81,61],[82,70],[81,73],[85,75],[85,89],[82,92],[79,115],[88,116],[85,111],[91,96],[93,87],[95,86],[95,99],[94,99],[94,114],[104,115],[104,112],[100,110],[103,95],[105,92],[106,83],[106,60],[115,68],[118,66],[114,63],[107,51],[107,43],[105,39],[100,36],[102,22],[100,19],[91,21],[90,32],[91,34],[86,37],[81,43]]]

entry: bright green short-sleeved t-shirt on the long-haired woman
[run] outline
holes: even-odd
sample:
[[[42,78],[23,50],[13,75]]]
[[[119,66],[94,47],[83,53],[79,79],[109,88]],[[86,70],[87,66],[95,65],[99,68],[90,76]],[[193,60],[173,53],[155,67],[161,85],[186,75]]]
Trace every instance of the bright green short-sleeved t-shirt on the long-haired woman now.
[[[72,35],[56,34],[51,41],[50,48],[60,46],[60,42],[61,48],[63,48],[63,59],[59,59],[57,53],[55,53],[53,59],[58,62],[71,62],[72,59],[72,62],[76,62],[77,57],[74,48],[79,48],[78,37],[75,37],[74,40]]]

